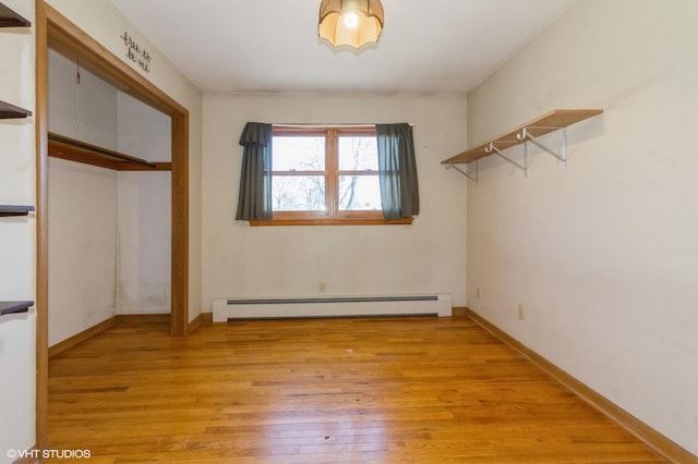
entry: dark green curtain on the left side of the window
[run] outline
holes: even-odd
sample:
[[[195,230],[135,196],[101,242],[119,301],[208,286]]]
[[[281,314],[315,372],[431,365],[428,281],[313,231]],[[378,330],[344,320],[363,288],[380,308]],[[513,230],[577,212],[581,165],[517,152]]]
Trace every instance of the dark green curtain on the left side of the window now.
[[[240,135],[242,170],[236,220],[272,219],[272,124],[249,122]]]

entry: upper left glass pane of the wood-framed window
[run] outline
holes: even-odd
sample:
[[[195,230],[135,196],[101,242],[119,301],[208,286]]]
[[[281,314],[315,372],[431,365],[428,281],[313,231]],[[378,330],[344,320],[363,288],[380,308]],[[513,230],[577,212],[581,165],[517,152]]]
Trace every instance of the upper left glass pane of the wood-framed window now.
[[[274,171],[324,171],[325,137],[273,137]]]

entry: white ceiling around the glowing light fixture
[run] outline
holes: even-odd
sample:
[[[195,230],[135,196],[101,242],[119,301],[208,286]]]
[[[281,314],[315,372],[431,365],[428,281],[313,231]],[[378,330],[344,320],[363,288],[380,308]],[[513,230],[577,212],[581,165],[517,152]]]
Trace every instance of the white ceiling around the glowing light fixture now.
[[[357,52],[317,37],[321,0],[111,1],[205,91],[458,94],[574,3],[383,0],[378,44]]]

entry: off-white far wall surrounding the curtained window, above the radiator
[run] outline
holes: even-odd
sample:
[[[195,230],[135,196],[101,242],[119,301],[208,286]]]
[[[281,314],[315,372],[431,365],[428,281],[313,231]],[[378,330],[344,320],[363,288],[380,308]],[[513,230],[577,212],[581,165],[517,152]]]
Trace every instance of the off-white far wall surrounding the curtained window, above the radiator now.
[[[204,304],[212,298],[449,293],[465,303],[466,184],[438,163],[465,145],[464,96],[205,95]],[[234,221],[248,121],[414,124],[421,213],[412,225]]]

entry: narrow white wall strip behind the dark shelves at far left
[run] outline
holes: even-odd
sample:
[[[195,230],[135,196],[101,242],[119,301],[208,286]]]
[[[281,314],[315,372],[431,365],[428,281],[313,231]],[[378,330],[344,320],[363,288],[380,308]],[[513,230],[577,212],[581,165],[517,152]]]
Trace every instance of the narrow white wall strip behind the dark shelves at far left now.
[[[34,22],[34,1],[3,0]],[[0,100],[34,112],[34,29],[0,29]],[[34,118],[0,121],[0,204],[34,205]],[[36,221],[0,218],[0,300],[35,300]],[[35,443],[36,313],[0,317],[0,463]]]

